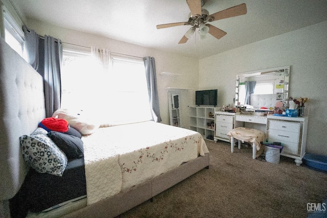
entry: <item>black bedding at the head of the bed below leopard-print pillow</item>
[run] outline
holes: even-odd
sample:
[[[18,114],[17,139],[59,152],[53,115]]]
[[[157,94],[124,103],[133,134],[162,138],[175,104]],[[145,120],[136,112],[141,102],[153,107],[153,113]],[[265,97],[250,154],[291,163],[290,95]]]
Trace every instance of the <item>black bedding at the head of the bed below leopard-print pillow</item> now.
[[[62,177],[40,174],[31,168],[21,188],[9,201],[11,217],[26,217],[29,210],[40,212],[84,195],[84,158],[69,161]]]

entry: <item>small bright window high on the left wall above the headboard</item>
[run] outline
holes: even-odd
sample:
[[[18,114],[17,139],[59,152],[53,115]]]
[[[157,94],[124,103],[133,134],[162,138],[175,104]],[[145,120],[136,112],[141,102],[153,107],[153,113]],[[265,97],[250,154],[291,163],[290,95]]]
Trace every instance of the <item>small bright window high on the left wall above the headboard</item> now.
[[[20,56],[24,45],[24,32],[19,28],[14,19],[4,11],[5,40]]]

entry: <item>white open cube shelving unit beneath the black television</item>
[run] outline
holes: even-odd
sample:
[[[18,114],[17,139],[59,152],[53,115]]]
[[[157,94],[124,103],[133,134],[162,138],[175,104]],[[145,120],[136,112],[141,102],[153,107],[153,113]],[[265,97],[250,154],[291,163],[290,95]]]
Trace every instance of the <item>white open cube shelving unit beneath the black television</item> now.
[[[203,138],[213,141],[215,136],[215,107],[190,106],[190,130],[199,132]],[[209,116],[209,113],[212,116]],[[212,125],[211,125],[212,124]]]

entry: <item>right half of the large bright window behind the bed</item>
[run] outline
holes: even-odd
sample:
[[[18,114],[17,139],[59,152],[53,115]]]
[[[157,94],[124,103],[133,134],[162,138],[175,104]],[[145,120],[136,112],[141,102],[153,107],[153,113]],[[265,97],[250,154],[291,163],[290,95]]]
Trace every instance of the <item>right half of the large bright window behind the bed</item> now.
[[[123,122],[150,120],[148,86],[143,61],[112,58],[109,77],[109,98],[112,115],[121,115]]]

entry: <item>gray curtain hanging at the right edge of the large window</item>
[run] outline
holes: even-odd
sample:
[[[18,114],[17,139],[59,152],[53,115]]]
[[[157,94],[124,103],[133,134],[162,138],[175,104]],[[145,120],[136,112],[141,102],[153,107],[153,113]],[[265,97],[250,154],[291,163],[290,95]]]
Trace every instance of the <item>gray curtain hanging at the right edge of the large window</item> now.
[[[159,110],[159,98],[157,89],[157,78],[155,73],[155,62],[153,57],[145,57],[144,66],[147,77],[149,103],[151,109],[151,116],[154,122],[161,122],[160,110]]]

